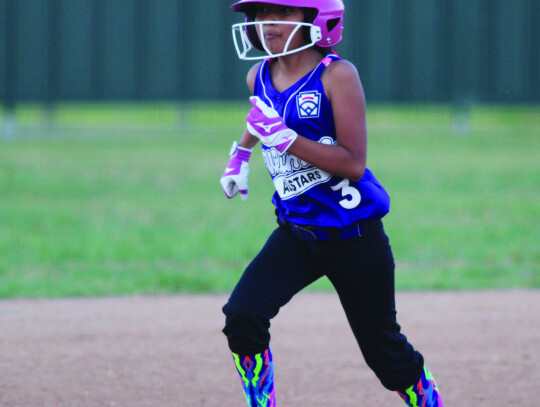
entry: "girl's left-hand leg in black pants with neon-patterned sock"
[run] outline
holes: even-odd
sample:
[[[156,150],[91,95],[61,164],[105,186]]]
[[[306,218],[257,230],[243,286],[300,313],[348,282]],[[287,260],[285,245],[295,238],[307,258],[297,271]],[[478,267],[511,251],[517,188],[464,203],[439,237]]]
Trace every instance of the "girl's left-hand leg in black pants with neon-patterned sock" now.
[[[284,228],[272,233],[223,307],[223,332],[248,405],[274,407],[270,320],[300,290],[321,277],[304,242]]]

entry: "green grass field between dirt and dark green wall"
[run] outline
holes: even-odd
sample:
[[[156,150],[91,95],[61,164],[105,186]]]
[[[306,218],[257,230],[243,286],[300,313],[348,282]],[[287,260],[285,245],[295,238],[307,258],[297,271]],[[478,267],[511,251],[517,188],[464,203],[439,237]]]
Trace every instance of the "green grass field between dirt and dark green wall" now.
[[[275,227],[258,149],[248,201],[219,185],[247,107],[20,108],[0,133],[0,297],[231,290]],[[398,289],[540,287],[540,107],[469,113],[368,108]]]

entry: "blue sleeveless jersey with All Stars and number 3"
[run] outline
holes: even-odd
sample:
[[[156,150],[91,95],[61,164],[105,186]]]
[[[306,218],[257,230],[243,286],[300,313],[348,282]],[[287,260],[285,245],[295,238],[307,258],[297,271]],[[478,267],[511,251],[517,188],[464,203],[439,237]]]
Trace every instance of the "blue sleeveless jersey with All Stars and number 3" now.
[[[254,94],[278,111],[298,134],[324,144],[337,144],[332,107],[321,82],[324,68],[339,59],[324,58],[313,71],[284,92],[270,78],[270,61],[259,67]],[[390,198],[366,168],[360,181],[333,176],[273,147],[262,146],[263,156],[276,187],[272,198],[278,216],[300,225],[343,227],[380,219],[390,208]]]

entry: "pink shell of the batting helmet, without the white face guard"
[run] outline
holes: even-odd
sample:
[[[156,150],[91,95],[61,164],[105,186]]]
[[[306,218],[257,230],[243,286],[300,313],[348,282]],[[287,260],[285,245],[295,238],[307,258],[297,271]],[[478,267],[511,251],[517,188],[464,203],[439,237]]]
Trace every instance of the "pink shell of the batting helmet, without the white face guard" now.
[[[322,34],[322,39],[316,44],[321,47],[332,47],[341,41],[343,13],[345,11],[343,0],[242,0],[234,3],[231,10],[246,13],[249,6],[256,3],[315,9],[317,10],[317,17],[315,17],[312,24],[319,27]]]

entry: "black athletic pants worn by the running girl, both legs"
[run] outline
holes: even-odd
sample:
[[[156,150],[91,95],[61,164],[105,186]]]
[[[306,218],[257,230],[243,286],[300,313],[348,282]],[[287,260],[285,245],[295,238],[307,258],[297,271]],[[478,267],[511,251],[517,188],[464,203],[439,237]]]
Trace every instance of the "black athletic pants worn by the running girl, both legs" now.
[[[232,352],[253,355],[270,344],[270,320],[322,276],[334,285],[368,366],[389,390],[416,383],[423,358],[400,333],[394,259],[381,221],[360,237],[306,242],[278,227],[247,267],[223,307]]]

